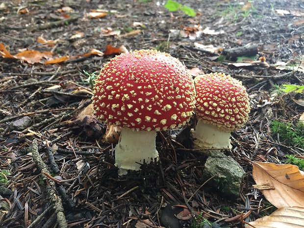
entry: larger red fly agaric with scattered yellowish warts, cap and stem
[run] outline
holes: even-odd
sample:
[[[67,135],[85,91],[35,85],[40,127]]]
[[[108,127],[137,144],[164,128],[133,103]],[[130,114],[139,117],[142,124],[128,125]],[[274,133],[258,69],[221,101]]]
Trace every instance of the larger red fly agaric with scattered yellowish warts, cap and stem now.
[[[101,122],[122,127],[115,147],[119,174],[158,158],[156,131],[185,125],[195,107],[193,80],[170,54],[130,51],[112,58],[94,85],[94,112]]]

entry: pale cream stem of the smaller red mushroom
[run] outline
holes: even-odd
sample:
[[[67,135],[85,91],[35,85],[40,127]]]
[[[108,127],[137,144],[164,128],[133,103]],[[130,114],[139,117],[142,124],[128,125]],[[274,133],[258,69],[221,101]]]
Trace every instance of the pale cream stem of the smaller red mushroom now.
[[[205,124],[199,118],[196,130],[192,131],[194,145],[202,149],[231,149],[230,132]]]

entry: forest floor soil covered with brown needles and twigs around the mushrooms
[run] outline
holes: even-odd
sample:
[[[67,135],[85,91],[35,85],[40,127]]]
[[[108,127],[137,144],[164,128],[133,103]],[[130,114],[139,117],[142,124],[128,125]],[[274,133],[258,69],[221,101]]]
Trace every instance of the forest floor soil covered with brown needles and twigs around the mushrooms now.
[[[164,220],[170,218],[175,221],[174,228],[187,227],[194,226],[191,212],[196,211],[221,227],[242,227],[243,221],[237,218],[225,220],[251,211],[244,218],[250,222],[274,209],[252,187],[251,161],[280,163],[287,153],[304,152],[280,142],[270,129],[272,120],[296,123],[304,112],[303,105],[292,100],[300,95],[274,95],[277,84],[304,84],[303,67],[299,67],[304,55],[303,0],[180,2],[192,7],[195,17],[181,10],[169,12],[164,3],[2,1],[0,43],[7,51],[12,55],[26,50],[51,51],[53,56],[69,57],[55,64],[44,64],[44,58],[35,61],[32,55],[1,58],[1,228],[61,228],[64,221],[75,228],[155,228],[168,227]],[[107,15],[90,18],[92,9],[102,9]],[[78,37],[71,37],[75,34]],[[40,36],[55,43],[38,43]],[[85,118],[78,116],[91,102],[92,86],[84,71],[98,72],[115,56],[85,53],[92,49],[104,52],[108,45],[123,45],[128,51],[158,49],[179,58],[190,70],[223,72],[243,82],[252,111],[248,123],[232,133],[233,149],[225,151],[246,172],[239,198],[202,186],[206,156],[192,149],[189,126],[158,132],[159,161],[118,177],[115,144],[104,142],[106,126],[90,113]],[[241,51],[232,49],[237,47],[242,47]],[[3,48],[0,53],[3,56]],[[240,59],[247,65],[231,64],[243,63]],[[279,62],[289,68],[278,68]],[[3,175],[3,170],[9,174]],[[189,208],[183,210],[183,220],[170,210],[166,214],[163,207],[169,203]]]

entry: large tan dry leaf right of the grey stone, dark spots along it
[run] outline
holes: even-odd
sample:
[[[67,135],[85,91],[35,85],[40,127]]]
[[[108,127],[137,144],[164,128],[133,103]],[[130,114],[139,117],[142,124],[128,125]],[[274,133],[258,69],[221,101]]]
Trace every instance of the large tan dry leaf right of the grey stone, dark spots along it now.
[[[304,177],[298,166],[253,162],[253,178],[257,185],[273,185],[261,192],[274,206],[304,206]]]

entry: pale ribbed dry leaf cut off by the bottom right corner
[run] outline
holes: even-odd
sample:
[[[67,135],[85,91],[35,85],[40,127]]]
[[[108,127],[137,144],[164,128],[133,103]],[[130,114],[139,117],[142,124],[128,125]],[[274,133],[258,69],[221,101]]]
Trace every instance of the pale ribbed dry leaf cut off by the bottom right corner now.
[[[269,216],[257,219],[245,228],[304,228],[303,207],[279,208]]]

